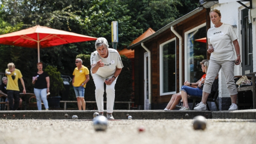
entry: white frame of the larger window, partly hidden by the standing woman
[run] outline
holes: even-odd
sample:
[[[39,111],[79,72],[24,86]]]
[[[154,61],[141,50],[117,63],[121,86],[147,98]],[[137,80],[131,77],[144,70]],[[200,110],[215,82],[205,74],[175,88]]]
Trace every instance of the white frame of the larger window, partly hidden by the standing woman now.
[[[185,41],[185,46],[184,46],[184,60],[185,60],[185,80],[184,81],[187,81],[188,80],[188,74],[187,74],[187,71],[188,71],[188,69],[187,69],[187,59],[188,59],[188,56],[187,56],[187,34],[189,34],[189,33],[191,33],[191,32],[193,32],[193,31],[196,31],[197,29],[199,29],[199,28],[202,28],[202,27],[204,27],[204,26],[206,26],[206,23],[204,23],[204,24],[201,24],[200,26],[197,26],[197,27],[195,27],[195,28],[193,28],[193,29],[191,29],[191,30],[189,30],[189,31],[186,31],[185,32],[185,39],[184,39],[184,41]],[[206,38],[207,38],[207,33],[206,33]]]

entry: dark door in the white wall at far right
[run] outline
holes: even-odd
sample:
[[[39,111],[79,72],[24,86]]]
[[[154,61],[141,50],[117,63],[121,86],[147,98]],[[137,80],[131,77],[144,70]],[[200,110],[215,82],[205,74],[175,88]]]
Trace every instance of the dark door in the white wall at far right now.
[[[248,9],[243,9],[242,24],[242,75],[253,72],[252,61],[252,24],[249,24]]]

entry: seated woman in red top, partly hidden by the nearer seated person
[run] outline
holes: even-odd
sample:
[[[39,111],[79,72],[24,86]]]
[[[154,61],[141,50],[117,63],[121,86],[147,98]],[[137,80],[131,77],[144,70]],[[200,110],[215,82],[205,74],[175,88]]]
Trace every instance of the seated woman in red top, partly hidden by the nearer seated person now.
[[[201,68],[202,68],[202,71],[205,72],[204,70],[204,63],[206,61],[209,61],[208,59],[204,59],[200,62],[201,64]],[[204,83],[204,79],[206,77],[206,74],[204,74],[200,80],[197,81],[197,83],[189,83],[188,81],[186,81],[184,83],[185,86],[189,86],[189,87],[194,87],[196,88],[197,86],[201,86],[202,83]],[[170,102],[167,104],[166,108],[164,109],[165,111],[167,110],[173,110],[176,108],[176,105],[179,104],[181,100],[181,92],[177,93],[177,94],[173,94],[172,97],[171,97],[171,100]]]

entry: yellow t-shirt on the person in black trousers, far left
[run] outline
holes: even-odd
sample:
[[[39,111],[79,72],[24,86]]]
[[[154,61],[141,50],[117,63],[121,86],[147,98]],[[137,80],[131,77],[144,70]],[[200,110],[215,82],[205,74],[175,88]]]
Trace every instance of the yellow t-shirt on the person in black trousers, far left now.
[[[5,71],[9,71],[7,68]],[[14,71],[10,75],[7,76],[7,87],[6,90],[16,90],[19,91],[19,85],[18,85],[18,79],[22,78],[21,71],[19,71],[17,68],[14,69]]]

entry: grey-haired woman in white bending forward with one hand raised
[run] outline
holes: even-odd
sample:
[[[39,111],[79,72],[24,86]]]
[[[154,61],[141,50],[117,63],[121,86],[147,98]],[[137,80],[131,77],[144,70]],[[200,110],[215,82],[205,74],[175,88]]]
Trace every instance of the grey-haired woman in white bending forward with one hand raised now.
[[[112,116],[115,101],[115,84],[121,73],[123,63],[119,53],[109,48],[106,38],[98,38],[95,42],[96,51],[92,52],[91,74],[95,83],[95,98],[99,114],[103,116],[103,94],[104,83],[107,93],[107,119],[114,119]]]

